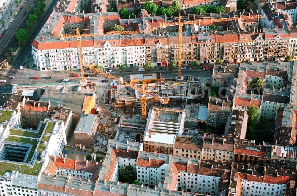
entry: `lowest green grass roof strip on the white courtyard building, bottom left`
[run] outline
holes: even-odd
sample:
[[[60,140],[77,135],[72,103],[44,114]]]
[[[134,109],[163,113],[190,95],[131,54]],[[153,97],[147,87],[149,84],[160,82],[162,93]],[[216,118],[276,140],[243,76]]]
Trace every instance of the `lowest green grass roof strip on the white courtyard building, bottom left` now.
[[[18,168],[19,166],[21,167],[20,169]],[[3,176],[5,172],[12,172],[12,170],[16,170],[23,174],[37,176],[41,166],[42,166],[42,162],[40,162],[40,164],[35,163],[35,166],[33,168],[30,168],[30,166],[26,166],[26,165],[0,162],[0,175]]]

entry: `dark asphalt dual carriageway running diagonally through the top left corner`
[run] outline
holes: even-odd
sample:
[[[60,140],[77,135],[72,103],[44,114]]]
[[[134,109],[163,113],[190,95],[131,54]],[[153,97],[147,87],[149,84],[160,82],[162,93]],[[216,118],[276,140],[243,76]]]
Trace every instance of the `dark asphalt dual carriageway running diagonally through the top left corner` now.
[[[28,15],[33,14],[34,8],[37,7],[38,0],[30,0],[26,3],[22,2],[20,5],[24,5],[23,9],[21,9],[21,12],[17,16],[9,16],[9,20],[13,17],[14,21],[12,23],[9,22],[9,24],[6,24],[10,26],[10,28],[4,33],[3,37],[0,39],[0,45],[3,46],[0,48],[0,61],[4,60],[6,58],[5,53],[9,52],[10,48],[17,44],[16,42],[16,36],[15,32],[18,31],[20,28],[25,28],[25,24],[28,20]],[[21,52],[16,57],[15,61],[13,62],[12,66],[16,67],[19,66],[20,62],[23,61],[24,57],[28,52],[31,50],[31,43],[33,42],[34,38],[38,35],[40,29],[42,28],[45,21],[50,16],[50,13],[53,11],[53,7],[56,5],[56,0],[53,0],[50,3],[50,6],[45,11],[45,13],[42,15],[41,20],[36,25],[36,28],[29,36],[28,41],[24,44],[24,46],[21,48]],[[18,8],[20,7],[18,6]],[[16,10],[18,9],[16,8]],[[23,16],[24,12],[26,13],[26,16]]]

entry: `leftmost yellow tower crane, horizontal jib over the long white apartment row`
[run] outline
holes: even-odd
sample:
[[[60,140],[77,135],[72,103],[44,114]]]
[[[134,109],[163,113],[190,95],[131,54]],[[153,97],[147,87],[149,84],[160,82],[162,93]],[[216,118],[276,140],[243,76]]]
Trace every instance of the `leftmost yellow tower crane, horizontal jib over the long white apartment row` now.
[[[143,33],[144,31],[106,31],[105,33],[84,33],[80,34],[80,30],[86,30],[86,29],[81,29],[77,28],[76,29],[76,34],[59,34],[57,35],[58,39],[64,39],[64,38],[77,38],[77,47],[78,47],[78,55],[79,55],[79,65],[80,65],[80,73],[81,73],[81,81],[85,82],[85,72],[83,70],[83,51],[81,48],[81,37],[95,37],[95,36],[102,36],[102,35],[114,35],[114,34],[119,34],[119,35],[129,35],[129,34],[140,34]]]

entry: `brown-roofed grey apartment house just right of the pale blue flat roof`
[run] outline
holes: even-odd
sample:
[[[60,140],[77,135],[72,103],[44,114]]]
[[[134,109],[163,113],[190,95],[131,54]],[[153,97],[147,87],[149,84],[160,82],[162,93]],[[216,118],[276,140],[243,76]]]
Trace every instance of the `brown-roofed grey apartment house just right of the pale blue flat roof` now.
[[[223,98],[209,97],[207,125],[217,127],[226,123],[232,109],[232,101]]]

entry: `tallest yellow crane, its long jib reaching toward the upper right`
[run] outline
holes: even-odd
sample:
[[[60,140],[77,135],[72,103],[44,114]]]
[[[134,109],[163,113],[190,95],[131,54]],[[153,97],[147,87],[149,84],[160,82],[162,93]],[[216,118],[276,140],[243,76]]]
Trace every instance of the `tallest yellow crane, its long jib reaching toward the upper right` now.
[[[197,20],[186,20],[182,21],[183,17],[178,17],[178,22],[168,22],[168,23],[160,23],[159,26],[161,28],[166,28],[168,26],[178,26],[178,79],[181,79],[181,61],[182,61],[182,28],[183,25],[197,24],[200,22],[212,24],[214,22],[223,22],[223,21],[233,21],[233,20],[246,20],[246,19],[256,19],[256,18],[265,18],[264,15],[250,15],[250,16],[238,16],[238,17],[230,17],[230,18],[205,18],[200,19],[197,17]],[[184,17],[187,18],[187,17]]]

